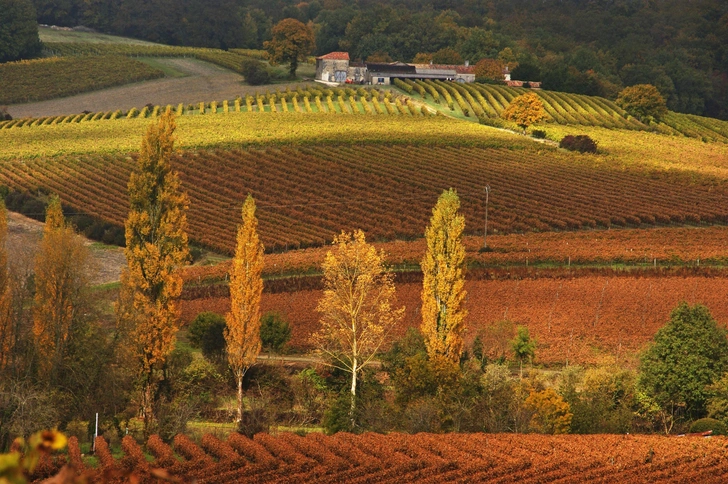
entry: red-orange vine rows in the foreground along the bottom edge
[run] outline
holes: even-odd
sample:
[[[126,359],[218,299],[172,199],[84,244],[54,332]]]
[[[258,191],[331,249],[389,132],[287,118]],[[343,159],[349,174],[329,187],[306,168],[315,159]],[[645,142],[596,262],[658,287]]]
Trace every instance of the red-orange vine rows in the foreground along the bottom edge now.
[[[721,437],[259,433],[248,439],[233,433],[226,440],[207,434],[199,445],[177,435],[170,446],[153,435],[146,444],[148,454],[124,437],[120,459],[114,459],[103,437],[96,447],[99,466],[87,467],[72,437],[68,456],[43,460],[37,481],[57,473],[66,461],[92,482],[101,476],[116,476],[104,482],[161,482],[154,477],[160,469],[198,484],[720,483],[728,477],[728,451]]]

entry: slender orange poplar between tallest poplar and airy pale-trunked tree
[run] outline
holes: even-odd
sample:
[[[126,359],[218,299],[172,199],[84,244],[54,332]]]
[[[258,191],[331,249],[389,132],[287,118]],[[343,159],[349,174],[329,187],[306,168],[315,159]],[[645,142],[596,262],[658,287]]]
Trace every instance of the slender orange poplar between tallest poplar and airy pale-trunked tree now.
[[[238,384],[238,422],[243,418],[243,378],[260,353],[260,297],[263,294],[263,244],[258,238],[255,200],[243,203],[243,224],[230,268],[230,312],[225,315],[228,363]]]

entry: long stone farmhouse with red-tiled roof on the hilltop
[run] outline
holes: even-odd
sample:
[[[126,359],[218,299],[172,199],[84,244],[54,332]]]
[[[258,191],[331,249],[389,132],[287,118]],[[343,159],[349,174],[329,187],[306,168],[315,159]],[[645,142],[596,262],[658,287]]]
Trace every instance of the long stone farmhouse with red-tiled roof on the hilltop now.
[[[324,84],[391,84],[394,79],[439,79],[473,82],[473,66],[406,64],[404,62],[353,63],[348,52],[331,52],[316,58],[316,81]]]

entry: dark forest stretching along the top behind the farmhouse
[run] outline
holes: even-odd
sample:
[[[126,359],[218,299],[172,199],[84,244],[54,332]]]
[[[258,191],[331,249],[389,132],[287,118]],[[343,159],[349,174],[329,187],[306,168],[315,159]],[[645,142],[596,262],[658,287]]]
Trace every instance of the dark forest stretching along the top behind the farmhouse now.
[[[510,48],[513,78],[614,99],[652,84],[669,109],[728,119],[722,0],[33,0],[38,20],[172,45],[263,48],[280,20],[310,23],[315,54],[352,59],[455,49],[475,64]]]

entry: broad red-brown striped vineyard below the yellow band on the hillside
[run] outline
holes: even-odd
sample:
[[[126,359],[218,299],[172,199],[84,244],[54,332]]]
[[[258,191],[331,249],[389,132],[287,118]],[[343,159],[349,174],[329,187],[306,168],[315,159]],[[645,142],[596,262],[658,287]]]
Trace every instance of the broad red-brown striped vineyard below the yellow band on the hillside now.
[[[9,161],[0,184],[43,188],[81,212],[122,224],[133,157]],[[340,230],[370,240],[420,237],[443,189],[459,192],[467,232],[725,223],[728,189],[706,175],[647,171],[550,148],[315,146],[182,152],[192,239],[230,252],[240,206],[256,198],[270,250],[321,245]],[[679,196],[676,196],[679,194]]]

